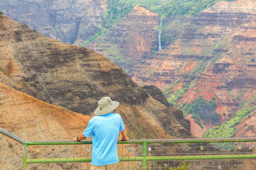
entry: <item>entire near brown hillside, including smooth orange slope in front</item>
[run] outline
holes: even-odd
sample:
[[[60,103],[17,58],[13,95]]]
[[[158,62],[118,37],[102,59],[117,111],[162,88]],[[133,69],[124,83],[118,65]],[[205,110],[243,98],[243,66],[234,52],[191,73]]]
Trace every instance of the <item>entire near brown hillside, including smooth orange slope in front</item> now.
[[[131,139],[193,137],[189,121],[156,86],[138,86],[106,57],[3,15],[0,60],[0,127],[26,141],[73,139],[104,96],[119,101]],[[20,144],[1,135],[0,147],[1,167],[21,167]]]

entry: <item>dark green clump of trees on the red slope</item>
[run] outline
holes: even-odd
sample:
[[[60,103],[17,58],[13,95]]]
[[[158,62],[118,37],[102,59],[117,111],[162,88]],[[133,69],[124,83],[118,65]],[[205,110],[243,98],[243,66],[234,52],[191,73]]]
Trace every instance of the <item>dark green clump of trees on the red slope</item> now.
[[[193,101],[193,103],[188,103],[185,106],[181,106],[183,115],[192,114],[192,118],[201,125],[201,119],[203,122],[215,123],[220,119],[218,113],[215,112],[217,108],[217,103],[213,97],[210,101],[206,101],[203,96],[198,96],[198,98]]]

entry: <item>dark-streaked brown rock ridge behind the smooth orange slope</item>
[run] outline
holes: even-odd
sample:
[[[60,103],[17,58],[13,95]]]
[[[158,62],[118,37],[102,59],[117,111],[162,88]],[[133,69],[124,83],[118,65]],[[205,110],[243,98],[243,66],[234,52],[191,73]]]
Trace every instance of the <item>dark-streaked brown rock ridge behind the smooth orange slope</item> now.
[[[134,137],[191,137],[181,111],[162,104],[163,99],[137,86],[107,58],[46,38],[6,16],[0,19],[4,84],[84,115],[95,111],[100,98],[110,96],[120,102],[117,111]]]

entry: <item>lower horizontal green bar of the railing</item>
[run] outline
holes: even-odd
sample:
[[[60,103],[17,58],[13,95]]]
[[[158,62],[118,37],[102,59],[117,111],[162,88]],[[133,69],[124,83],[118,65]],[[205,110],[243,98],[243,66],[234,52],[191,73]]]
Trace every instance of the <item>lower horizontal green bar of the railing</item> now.
[[[255,159],[256,154],[220,154],[220,155],[194,155],[194,156],[164,156],[146,157],[146,161],[174,161],[174,160],[212,160],[212,159]],[[87,158],[61,158],[61,159],[27,159],[27,164],[37,163],[65,163],[65,162],[91,162]],[[120,162],[143,161],[143,157],[124,157]]]

